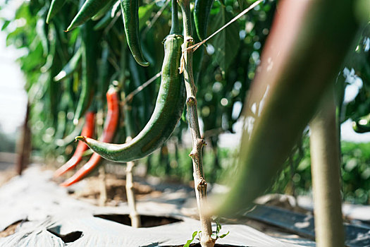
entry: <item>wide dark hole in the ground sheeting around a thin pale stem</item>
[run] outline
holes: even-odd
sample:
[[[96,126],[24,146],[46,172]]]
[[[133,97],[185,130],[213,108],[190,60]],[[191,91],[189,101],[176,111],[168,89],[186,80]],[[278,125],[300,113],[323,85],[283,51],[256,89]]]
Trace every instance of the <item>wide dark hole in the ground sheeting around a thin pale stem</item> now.
[[[129,215],[94,215],[94,217],[99,217],[101,219],[107,219],[111,220],[112,222],[131,226],[131,219]],[[158,227],[163,226],[164,224],[172,224],[182,221],[181,219],[176,219],[173,217],[154,215],[140,215],[140,220],[142,222],[142,227]]]

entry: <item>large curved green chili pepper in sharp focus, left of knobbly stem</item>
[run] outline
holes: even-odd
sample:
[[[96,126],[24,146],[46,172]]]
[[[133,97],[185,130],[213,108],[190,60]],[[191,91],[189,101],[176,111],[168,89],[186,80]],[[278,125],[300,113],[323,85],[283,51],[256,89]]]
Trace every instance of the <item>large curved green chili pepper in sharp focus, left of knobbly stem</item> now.
[[[178,70],[181,44],[183,37],[178,34],[168,35],[164,40],[165,56],[156,106],[149,122],[135,138],[124,144],[102,143],[83,136],[76,139],[87,143],[102,157],[116,162],[140,159],[161,147],[175,129],[185,105],[185,85]]]

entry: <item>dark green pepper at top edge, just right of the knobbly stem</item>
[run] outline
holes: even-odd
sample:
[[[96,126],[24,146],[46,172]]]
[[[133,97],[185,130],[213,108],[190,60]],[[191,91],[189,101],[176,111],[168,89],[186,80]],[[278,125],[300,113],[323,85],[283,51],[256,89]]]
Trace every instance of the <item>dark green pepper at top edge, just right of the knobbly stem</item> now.
[[[213,4],[214,0],[195,0],[194,23],[199,40],[204,40],[206,38],[209,13],[211,13]]]

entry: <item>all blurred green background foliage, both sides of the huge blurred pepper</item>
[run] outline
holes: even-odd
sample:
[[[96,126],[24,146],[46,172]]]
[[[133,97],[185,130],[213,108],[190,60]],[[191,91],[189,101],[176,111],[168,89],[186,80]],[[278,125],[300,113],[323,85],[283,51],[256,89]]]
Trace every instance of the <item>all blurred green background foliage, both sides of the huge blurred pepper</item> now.
[[[211,10],[208,34],[225,25],[253,1],[215,1]],[[114,4],[114,1],[112,2]],[[121,100],[161,70],[164,48],[161,44],[171,27],[169,1],[140,1],[140,35],[145,58],[151,66],[136,64],[130,54],[123,30],[121,11],[117,5],[98,20],[70,32],[64,32],[78,12],[77,0],[67,1],[60,13],[45,23],[49,0],[25,1],[12,19],[3,18],[2,28],[8,32],[7,44],[13,44],[27,53],[19,63],[26,78],[25,89],[31,103],[30,126],[34,155],[47,162],[63,163],[75,148],[73,138],[81,126],[73,124],[75,107],[81,92],[81,61],[69,76],[56,82],[54,78],[82,46],[82,32],[90,32],[93,39],[85,45],[94,46],[96,70],[92,107],[97,110],[97,137],[101,134],[106,114],[105,92],[109,85],[118,86]],[[6,5],[3,6],[6,8]],[[156,15],[162,11],[161,15]],[[204,171],[210,182],[220,181],[224,170],[233,165],[235,150],[218,147],[221,133],[234,133],[235,123],[241,118],[245,97],[254,78],[259,57],[276,10],[275,1],[265,1],[238,21],[211,39],[194,54],[195,82],[202,133],[209,144],[204,153]],[[195,37],[195,42],[197,36]],[[354,85],[361,78],[359,94],[350,102],[339,104],[341,121],[357,120],[370,114],[369,25],[359,34],[355,54],[347,59],[347,71],[338,76],[338,102],[343,102],[345,86]],[[353,68],[353,70],[352,70]],[[137,94],[121,107],[121,122],[115,143],[123,143],[126,135],[136,135],[149,120],[154,109],[160,80]],[[183,118],[185,119],[185,118]],[[273,123],[271,124],[273,128]],[[192,179],[192,160],[188,157],[190,145],[183,135],[187,123],[178,128],[161,150],[140,160],[149,174],[172,179]],[[3,139],[1,137],[1,139]],[[5,140],[5,139],[4,139]],[[277,176],[271,191],[279,193],[308,193],[311,188],[309,142],[302,135],[285,169]],[[342,143],[343,195],[355,203],[370,203],[370,147],[369,144]]]

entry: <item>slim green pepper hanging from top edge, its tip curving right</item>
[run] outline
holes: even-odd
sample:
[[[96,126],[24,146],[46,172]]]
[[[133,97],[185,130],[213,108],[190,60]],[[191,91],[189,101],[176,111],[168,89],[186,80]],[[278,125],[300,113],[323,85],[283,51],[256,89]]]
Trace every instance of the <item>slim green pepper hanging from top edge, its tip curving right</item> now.
[[[128,47],[130,47],[132,56],[134,56],[137,64],[141,66],[149,66],[149,62],[145,61],[142,56],[142,48],[139,38],[139,2],[138,0],[122,0],[121,11],[123,16],[123,25],[125,26],[126,39]]]

